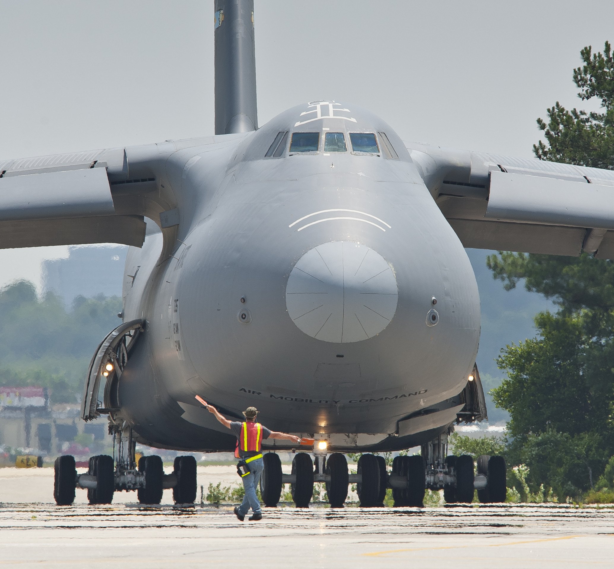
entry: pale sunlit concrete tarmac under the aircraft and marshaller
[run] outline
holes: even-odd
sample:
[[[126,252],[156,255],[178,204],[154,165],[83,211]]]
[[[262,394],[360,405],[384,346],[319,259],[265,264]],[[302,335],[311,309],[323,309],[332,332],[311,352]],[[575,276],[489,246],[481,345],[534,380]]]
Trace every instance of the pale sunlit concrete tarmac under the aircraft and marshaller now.
[[[226,468],[199,468],[199,484]],[[0,567],[614,567],[614,506],[288,505],[241,523],[230,505],[173,506],[166,491],[161,506],[147,507],[134,492],[108,506],[84,504],[84,490],[74,506],[24,500],[49,474],[53,486],[53,471],[16,470],[0,469]],[[3,484],[11,477],[21,479],[17,492]],[[7,500],[9,486],[21,500]]]

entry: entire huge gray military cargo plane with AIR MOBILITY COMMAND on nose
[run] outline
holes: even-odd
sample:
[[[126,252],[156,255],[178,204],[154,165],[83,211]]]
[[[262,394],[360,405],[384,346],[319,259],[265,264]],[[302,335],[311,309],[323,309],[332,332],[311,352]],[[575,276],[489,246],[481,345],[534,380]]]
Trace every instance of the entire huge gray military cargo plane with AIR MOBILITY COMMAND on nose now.
[[[475,365],[480,298],[465,247],[614,257],[614,172],[402,141],[346,101],[308,101],[258,127],[253,0],[216,0],[216,134],[0,162],[0,246],[130,246],[122,323],[102,339],[82,418],[106,414],[115,456],[55,464],[55,500],[138,490],[196,497],[196,462],[164,474],[137,442],[220,452],[256,406],[267,506],[306,507],[357,483],[362,506],[505,500],[505,461],[448,456],[487,417]],[[398,456],[387,471],[381,455]],[[276,451],[298,450],[292,474]],[[344,453],[361,452],[349,474]],[[315,458],[315,465],[311,454]]]

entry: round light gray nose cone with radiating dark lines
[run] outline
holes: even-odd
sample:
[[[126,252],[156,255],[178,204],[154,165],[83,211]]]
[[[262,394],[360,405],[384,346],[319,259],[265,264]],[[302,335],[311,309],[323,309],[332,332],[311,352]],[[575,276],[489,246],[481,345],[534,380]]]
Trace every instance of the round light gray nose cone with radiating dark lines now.
[[[324,342],[360,342],[379,334],[392,320],[397,299],[397,280],[386,259],[351,241],[307,251],[286,285],[290,318]]]

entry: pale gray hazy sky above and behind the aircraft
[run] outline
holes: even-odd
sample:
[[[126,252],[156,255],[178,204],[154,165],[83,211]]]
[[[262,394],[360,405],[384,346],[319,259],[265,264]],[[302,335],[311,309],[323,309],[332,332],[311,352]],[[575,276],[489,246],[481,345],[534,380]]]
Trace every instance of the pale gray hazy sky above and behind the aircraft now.
[[[0,159],[208,135],[213,0],[0,0]],[[255,0],[258,119],[333,98],[404,139],[531,157],[609,1]],[[0,286],[66,248],[0,251]]]

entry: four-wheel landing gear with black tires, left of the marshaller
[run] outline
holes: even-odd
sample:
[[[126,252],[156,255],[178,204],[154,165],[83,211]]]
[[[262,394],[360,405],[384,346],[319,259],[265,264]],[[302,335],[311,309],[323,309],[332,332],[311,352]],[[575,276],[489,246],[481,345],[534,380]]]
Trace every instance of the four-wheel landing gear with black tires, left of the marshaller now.
[[[115,490],[136,490],[139,503],[159,504],[166,488],[173,489],[176,504],[194,503],[194,457],[175,458],[171,474],[164,473],[162,460],[156,455],[139,458],[137,465],[136,436],[131,428],[115,428],[114,423],[111,423],[111,428],[115,438],[115,458],[108,455],[91,457],[87,474],[77,474],[74,457],[64,455],[56,458],[53,497],[58,506],[72,504],[76,488],[87,489],[90,504],[110,504]]]

